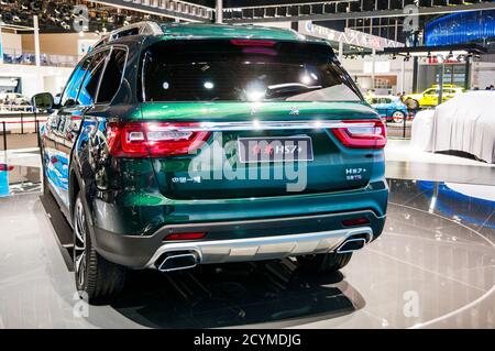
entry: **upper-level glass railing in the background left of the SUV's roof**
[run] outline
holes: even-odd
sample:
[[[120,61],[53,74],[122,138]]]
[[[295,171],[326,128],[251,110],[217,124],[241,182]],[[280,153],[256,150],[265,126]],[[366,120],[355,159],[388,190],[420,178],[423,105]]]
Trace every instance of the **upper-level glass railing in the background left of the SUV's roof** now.
[[[52,67],[75,67],[77,64],[77,56],[72,55],[52,55],[40,54],[40,63],[42,66]],[[31,65],[36,64],[33,52],[16,51],[13,48],[3,48],[3,63],[11,65]]]

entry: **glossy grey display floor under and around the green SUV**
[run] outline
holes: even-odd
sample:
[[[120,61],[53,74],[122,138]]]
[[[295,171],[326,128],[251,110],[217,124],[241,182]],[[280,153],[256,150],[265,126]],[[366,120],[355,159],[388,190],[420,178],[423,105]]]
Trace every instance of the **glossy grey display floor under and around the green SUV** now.
[[[69,227],[53,199],[2,198],[0,327],[495,328],[495,202],[480,198],[486,189],[389,186],[383,235],[341,273],[308,275],[290,260],[136,271],[111,305],[90,307],[75,295]]]

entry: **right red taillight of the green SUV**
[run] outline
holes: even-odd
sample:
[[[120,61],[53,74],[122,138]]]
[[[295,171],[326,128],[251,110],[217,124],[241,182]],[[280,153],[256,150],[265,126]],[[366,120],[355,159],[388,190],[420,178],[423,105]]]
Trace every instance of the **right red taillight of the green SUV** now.
[[[385,124],[381,120],[342,121],[343,128],[332,129],[339,141],[352,149],[383,149],[387,143]]]

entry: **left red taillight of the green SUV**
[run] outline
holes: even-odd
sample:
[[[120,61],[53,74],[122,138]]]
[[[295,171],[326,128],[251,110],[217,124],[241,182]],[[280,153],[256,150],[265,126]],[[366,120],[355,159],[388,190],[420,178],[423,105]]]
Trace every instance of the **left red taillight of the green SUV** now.
[[[185,155],[199,149],[210,135],[195,127],[199,129],[199,123],[110,123],[108,147],[113,156]]]

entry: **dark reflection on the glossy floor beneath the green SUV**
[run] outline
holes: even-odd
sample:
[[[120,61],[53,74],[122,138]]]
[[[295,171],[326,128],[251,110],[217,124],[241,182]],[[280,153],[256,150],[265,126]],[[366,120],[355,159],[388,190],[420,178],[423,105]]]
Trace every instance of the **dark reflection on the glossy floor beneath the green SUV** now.
[[[289,260],[201,266],[175,273],[133,272],[112,307],[147,327],[290,327],[364,307],[343,279],[301,272]]]

